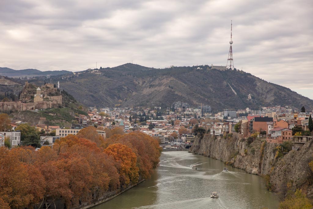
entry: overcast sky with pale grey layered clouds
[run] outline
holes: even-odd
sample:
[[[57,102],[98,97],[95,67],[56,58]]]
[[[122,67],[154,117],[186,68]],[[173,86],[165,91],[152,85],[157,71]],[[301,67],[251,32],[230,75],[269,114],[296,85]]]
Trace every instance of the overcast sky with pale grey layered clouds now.
[[[0,67],[234,66],[313,99],[311,0],[1,0]]]

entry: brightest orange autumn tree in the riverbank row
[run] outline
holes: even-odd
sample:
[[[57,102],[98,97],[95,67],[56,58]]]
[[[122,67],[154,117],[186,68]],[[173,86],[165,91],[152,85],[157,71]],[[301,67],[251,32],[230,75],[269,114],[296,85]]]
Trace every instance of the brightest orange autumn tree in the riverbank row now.
[[[130,181],[138,181],[138,167],[136,166],[136,154],[124,144],[111,144],[105,150],[105,154],[112,156],[115,160],[115,167],[120,174],[121,185],[128,185]]]

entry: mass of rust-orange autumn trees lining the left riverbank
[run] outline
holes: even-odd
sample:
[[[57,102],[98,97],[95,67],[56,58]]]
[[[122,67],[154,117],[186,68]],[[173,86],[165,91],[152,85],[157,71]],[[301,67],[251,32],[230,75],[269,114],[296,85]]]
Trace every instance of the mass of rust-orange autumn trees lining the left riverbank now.
[[[146,134],[104,140],[93,127],[57,140],[53,148],[1,147],[0,208],[49,207],[59,198],[69,207],[98,199],[149,177],[160,154],[158,142]]]

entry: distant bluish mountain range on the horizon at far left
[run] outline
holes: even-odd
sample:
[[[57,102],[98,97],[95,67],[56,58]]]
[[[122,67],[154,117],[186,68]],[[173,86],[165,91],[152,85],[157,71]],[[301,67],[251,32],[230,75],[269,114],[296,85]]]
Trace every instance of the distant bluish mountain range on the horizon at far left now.
[[[8,77],[18,77],[18,76],[27,76],[27,77],[35,77],[35,76],[55,76],[72,73],[70,71],[39,71],[36,69],[25,69],[25,70],[13,70],[7,67],[0,67],[0,75],[8,76]]]

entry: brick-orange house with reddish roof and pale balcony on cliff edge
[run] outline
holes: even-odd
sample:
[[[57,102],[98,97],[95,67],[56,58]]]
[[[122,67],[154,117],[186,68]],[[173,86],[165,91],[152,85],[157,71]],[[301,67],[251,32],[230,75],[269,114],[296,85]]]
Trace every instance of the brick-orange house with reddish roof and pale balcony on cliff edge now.
[[[292,130],[289,128],[277,127],[269,131],[266,142],[281,144],[284,141],[292,141]]]

